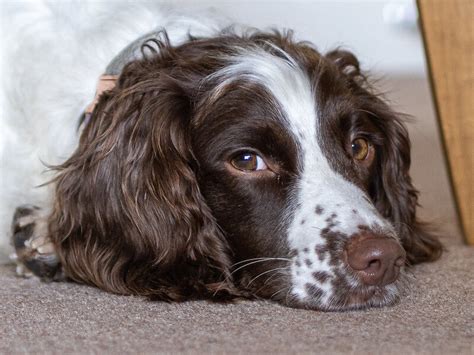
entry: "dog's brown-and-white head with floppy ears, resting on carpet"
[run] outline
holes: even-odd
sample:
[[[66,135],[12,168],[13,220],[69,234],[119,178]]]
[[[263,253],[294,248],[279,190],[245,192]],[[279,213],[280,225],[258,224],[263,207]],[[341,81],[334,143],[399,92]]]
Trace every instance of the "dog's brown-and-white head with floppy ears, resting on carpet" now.
[[[70,277],[348,309],[392,303],[404,265],[440,255],[407,131],[351,53],[278,33],[155,44],[60,167],[50,231]]]

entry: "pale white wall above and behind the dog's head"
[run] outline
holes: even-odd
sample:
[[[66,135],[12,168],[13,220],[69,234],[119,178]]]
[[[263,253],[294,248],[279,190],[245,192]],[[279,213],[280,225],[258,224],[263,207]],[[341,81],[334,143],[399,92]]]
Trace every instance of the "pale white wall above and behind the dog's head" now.
[[[344,46],[365,69],[388,75],[424,75],[422,41],[413,0],[180,0],[188,8],[213,7],[239,23],[291,28],[297,38],[326,51]],[[402,22],[401,25],[390,24]]]

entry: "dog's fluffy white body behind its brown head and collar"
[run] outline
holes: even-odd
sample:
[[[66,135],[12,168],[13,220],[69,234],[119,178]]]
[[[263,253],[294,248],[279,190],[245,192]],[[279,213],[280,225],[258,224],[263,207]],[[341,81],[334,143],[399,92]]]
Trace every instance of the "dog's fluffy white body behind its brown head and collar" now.
[[[140,35],[166,28],[173,44],[210,36],[224,17],[156,3],[20,2],[1,8],[0,263],[8,261],[17,206],[47,208],[49,165],[77,145],[78,118],[106,66]],[[205,18],[206,21],[202,19]],[[228,22],[227,22],[228,23]]]

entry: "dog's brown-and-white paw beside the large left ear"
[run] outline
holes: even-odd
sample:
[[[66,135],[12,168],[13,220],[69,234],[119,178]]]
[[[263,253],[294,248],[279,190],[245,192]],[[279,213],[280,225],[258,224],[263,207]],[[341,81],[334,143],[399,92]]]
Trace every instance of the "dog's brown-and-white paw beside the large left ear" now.
[[[47,216],[38,207],[20,206],[12,223],[12,242],[17,263],[17,274],[24,277],[38,276],[44,281],[64,279],[54,244],[47,234]]]

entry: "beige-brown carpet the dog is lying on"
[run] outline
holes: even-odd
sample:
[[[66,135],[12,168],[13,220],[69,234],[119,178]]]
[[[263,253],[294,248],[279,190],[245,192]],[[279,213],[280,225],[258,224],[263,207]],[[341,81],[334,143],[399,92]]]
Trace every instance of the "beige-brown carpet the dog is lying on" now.
[[[420,214],[449,248],[440,261],[412,269],[399,304],[346,313],[257,301],[166,304],[19,279],[13,267],[0,267],[0,354],[473,354],[474,248],[462,246],[427,84],[400,79],[384,87],[417,118],[410,132]]]

